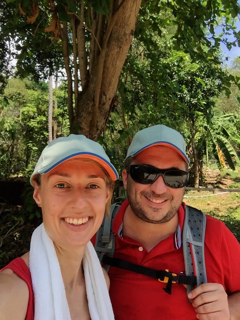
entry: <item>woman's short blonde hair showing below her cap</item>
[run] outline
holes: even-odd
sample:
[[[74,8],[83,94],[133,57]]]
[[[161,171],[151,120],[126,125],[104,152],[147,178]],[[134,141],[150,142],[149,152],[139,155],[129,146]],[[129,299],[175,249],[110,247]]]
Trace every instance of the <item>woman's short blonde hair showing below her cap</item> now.
[[[106,187],[108,188],[108,190],[110,191],[110,196],[109,199],[106,203],[106,208],[105,208],[105,215],[109,216],[110,214],[110,206],[111,206],[111,201],[112,201],[112,196],[113,196],[113,189],[114,189],[114,181],[112,180],[112,178],[110,177],[110,175],[108,174],[108,172],[106,171],[106,169],[104,169],[97,161],[92,160],[92,159],[88,159],[88,158],[72,158],[69,159],[68,161],[79,161],[79,162],[88,162],[88,163],[92,163],[97,165],[101,171],[104,173],[105,178],[106,178]],[[38,187],[41,186],[41,175],[38,173],[33,177],[33,181],[35,181],[35,183],[37,184]]]

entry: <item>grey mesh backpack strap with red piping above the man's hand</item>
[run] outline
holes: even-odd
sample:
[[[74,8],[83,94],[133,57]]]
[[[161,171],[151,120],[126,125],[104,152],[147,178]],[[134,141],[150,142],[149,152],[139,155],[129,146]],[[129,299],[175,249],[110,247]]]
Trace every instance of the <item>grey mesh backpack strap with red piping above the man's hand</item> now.
[[[196,273],[197,286],[207,283],[207,274],[204,256],[204,238],[206,216],[196,208],[186,205],[183,225],[183,255],[186,276]],[[194,286],[187,285],[187,294]],[[192,300],[189,299],[190,302]]]

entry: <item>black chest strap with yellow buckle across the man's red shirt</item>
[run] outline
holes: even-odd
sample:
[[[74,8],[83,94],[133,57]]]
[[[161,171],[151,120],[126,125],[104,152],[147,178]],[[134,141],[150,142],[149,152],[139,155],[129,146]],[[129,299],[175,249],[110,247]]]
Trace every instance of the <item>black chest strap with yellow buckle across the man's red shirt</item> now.
[[[155,270],[155,269],[139,266],[137,264],[128,262],[126,260],[108,257],[107,255],[103,256],[102,262],[112,267],[129,270],[144,276],[150,276],[159,281],[164,281],[164,278],[167,277],[168,282],[167,282],[166,288],[163,288],[163,290],[169,294],[172,293],[172,281],[175,281],[177,284],[186,284],[190,286],[196,285],[196,276],[185,276],[181,274],[175,276],[171,272],[168,272],[166,270]]]

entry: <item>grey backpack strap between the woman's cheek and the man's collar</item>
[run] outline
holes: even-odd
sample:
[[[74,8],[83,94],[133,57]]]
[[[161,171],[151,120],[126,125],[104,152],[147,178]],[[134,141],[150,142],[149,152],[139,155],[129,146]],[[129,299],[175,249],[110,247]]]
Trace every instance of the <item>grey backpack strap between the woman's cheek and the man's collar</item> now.
[[[105,217],[96,234],[94,249],[97,252],[98,259],[101,262],[105,253],[108,257],[113,257],[115,251],[115,235],[112,233],[114,218],[120,208],[121,203],[111,204],[109,217]],[[110,266],[103,264],[102,267],[108,272]]]

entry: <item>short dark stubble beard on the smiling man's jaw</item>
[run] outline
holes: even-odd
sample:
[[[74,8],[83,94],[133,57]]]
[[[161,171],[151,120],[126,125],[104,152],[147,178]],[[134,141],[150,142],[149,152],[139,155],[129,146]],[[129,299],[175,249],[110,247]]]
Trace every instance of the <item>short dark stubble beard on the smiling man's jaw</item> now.
[[[183,196],[185,193],[185,188],[183,188],[182,196],[179,199],[179,201],[175,205],[171,204],[171,207],[168,210],[168,212],[160,220],[152,220],[152,219],[148,218],[147,212],[142,208],[140,202],[136,200],[137,192],[135,191],[135,193],[133,194],[132,188],[131,188],[131,183],[129,183],[129,181],[127,183],[126,191],[127,191],[127,197],[128,197],[128,201],[129,201],[130,207],[132,209],[132,212],[139,219],[141,219],[145,222],[148,222],[148,223],[160,224],[160,223],[166,223],[166,222],[172,220],[172,218],[176,215],[180,205],[182,204]],[[148,198],[159,198],[159,199],[166,199],[167,198],[168,201],[173,200],[173,196],[168,193],[164,193],[162,195],[157,195],[156,193],[153,193],[153,192],[147,194],[146,192],[142,191],[142,192],[140,192],[140,196],[147,196]],[[149,210],[152,210],[152,212],[161,213],[161,209],[159,210],[157,208],[156,209],[150,208],[150,206],[149,206]]]

